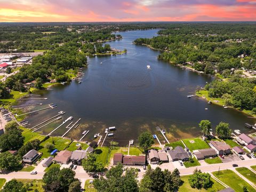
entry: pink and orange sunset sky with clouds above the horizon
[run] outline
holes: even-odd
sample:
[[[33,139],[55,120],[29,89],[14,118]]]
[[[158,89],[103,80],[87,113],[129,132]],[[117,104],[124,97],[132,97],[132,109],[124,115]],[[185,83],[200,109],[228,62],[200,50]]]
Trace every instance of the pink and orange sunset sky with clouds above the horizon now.
[[[0,0],[0,22],[255,20],[256,0]]]

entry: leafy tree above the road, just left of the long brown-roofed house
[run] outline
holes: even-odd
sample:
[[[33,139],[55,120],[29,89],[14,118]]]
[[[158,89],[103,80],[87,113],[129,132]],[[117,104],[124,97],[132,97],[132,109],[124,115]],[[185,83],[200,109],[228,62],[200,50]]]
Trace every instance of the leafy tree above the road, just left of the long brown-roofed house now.
[[[86,159],[82,160],[82,166],[86,172],[102,172],[104,165],[97,161],[97,154],[89,154]]]

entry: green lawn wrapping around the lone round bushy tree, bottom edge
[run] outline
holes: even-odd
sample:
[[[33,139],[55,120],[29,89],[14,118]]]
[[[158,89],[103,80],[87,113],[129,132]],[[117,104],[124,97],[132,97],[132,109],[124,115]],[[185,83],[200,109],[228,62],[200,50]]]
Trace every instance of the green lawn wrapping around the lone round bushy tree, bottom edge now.
[[[180,177],[181,180],[183,181],[182,185],[180,186],[179,188],[179,191],[189,191],[189,192],[196,192],[196,191],[201,191],[201,192],[204,192],[204,191],[219,191],[219,190],[222,190],[222,189],[225,189],[224,186],[222,186],[219,182],[215,181],[214,179],[211,178],[212,182],[213,182],[213,185],[211,188],[209,189],[201,189],[201,190],[198,190],[198,189],[195,189],[195,188],[192,188],[188,182],[188,178],[189,178],[189,175],[186,175],[186,176],[181,176]]]

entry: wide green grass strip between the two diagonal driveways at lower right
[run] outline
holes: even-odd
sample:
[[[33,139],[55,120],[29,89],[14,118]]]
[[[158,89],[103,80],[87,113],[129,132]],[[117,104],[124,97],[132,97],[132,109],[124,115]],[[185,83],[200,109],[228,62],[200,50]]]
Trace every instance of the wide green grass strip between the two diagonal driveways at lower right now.
[[[242,178],[240,178],[234,171],[231,170],[223,170],[219,172],[218,177],[218,171],[213,172],[213,175],[217,177],[219,180],[221,180],[223,183],[228,185],[229,187],[233,188],[235,191],[243,191],[243,186],[246,186],[248,191],[256,191],[254,188],[252,188],[249,183],[244,181]]]

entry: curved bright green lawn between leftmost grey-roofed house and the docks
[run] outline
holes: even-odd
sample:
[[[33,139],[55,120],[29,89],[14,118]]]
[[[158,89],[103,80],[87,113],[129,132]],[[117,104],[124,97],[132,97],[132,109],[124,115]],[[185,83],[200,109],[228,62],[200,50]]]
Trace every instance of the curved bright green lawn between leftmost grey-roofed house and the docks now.
[[[51,143],[55,146],[55,149],[58,149],[59,151],[64,150],[68,144],[71,141],[69,139],[63,139],[61,137],[50,137],[49,139],[47,139],[46,141],[42,142],[40,144],[40,146],[42,147],[41,149],[39,149],[39,152],[43,153],[43,155],[41,156],[40,159],[42,158],[46,158],[49,157],[51,154],[51,151],[49,151],[48,149],[44,148],[44,146],[46,145],[46,143]]]

